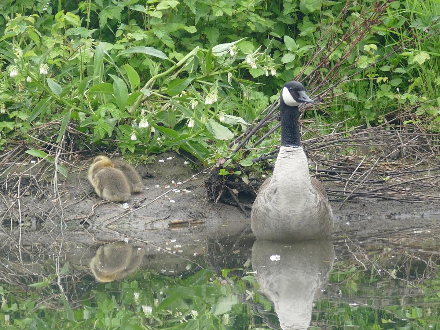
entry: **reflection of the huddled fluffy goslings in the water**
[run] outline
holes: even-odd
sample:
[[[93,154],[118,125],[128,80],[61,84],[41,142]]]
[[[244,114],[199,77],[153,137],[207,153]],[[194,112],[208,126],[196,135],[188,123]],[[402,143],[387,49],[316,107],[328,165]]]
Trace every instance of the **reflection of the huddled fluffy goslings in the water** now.
[[[100,246],[90,260],[90,268],[98,282],[123,279],[142,264],[145,251],[124,242]]]

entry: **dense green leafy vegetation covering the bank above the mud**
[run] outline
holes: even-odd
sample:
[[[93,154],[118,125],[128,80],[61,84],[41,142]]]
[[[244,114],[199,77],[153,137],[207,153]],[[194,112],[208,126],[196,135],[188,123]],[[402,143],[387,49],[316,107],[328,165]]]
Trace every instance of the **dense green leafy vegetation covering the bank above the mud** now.
[[[291,79],[320,101],[312,117],[341,130],[404,110],[437,121],[439,11],[433,0],[6,0],[0,150],[24,141],[44,158],[40,143],[68,141],[249,166],[277,144],[275,131],[253,149],[275,123],[244,154],[231,154],[234,139]]]

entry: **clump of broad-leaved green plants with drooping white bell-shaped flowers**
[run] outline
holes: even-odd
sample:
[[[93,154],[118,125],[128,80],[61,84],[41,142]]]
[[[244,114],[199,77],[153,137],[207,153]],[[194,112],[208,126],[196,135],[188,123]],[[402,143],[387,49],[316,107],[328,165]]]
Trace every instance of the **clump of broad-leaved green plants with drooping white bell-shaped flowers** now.
[[[167,55],[125,47],[126,40],[95,41],[94,30],[69,12],[45,18],[44,29],[38,20],[17,15],[1,39],[5,138],[32,139],[30,128],[56,121],[57,142],[73,123],[90,143],[115,143],[122,153],[183,149],[205,161],[268,105],[245,74],[275,75],[279,67],[246,38]]]

